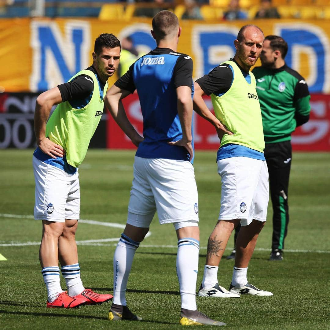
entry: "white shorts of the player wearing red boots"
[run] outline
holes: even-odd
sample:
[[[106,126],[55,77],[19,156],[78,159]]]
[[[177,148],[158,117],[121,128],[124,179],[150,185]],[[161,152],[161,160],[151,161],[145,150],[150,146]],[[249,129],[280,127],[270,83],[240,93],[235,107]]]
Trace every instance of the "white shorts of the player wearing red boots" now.
[[[80,213],[80,187],[78,171],[69,174],[33,156],[36,182],[34,218],[65,222],[78,220]]]

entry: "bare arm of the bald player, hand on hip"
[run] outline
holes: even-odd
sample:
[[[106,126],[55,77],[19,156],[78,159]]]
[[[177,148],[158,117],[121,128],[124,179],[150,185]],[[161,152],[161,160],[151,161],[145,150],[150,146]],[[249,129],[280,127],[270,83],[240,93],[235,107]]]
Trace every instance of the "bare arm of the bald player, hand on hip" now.
[[[206,106],[202,96],[205,95],[204,91],[201,89],[197,82],[194,83],[194,98],[193,106],[195,112],[201,117],[209,121],[216,129],[219,139],[222,139],[224,134],[233,135],[233,132],[228,130],[228,128],[221,124],[221,122],[215,117],[215,115]]]

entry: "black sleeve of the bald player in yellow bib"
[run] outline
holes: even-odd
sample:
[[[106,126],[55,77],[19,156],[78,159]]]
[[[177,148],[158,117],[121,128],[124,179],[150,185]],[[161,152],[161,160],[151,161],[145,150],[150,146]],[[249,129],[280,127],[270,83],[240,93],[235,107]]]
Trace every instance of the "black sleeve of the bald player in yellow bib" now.
[[[233,81],[233,72],[229,64],[221,64],[215,67],[209,74],[196,80],[206,95],[225,93],[229,90]]]

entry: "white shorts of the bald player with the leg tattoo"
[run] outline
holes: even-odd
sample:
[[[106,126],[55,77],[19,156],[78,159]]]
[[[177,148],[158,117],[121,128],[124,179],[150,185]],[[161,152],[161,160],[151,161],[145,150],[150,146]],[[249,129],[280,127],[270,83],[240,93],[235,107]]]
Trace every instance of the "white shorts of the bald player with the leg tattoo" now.
[[[266,161],[231,157],[217,164],[221,176],[219,220],[241,219],[242,226],[253,219],[266,221],[269,200]]]

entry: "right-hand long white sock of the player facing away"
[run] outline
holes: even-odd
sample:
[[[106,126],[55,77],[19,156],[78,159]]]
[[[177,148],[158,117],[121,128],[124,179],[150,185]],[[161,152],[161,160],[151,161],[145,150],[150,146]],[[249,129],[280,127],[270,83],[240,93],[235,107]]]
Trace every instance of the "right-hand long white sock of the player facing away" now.
[[[199,241],[181,238],[178,241],[177,274],[180,285],[181,308],[196,311],[196,281]]]

